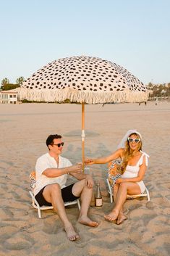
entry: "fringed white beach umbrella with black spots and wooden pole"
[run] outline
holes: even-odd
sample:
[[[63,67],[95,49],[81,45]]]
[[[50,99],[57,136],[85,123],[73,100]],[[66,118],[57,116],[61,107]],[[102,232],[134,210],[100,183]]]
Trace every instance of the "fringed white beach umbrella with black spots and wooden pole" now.
[[[98,57],[66,57],[42,67],[20,88],[20,99],[82,104],[82,162],[85,155],[85,103],[146,102],[148,90],[124,67]]]

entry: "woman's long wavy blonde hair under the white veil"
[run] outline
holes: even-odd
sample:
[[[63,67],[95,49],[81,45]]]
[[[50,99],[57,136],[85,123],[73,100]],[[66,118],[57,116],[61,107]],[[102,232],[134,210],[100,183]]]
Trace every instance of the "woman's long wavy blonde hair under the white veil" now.
[[[124,147],[124,157],[123,157],[122,165],[121,165],[121,173],[122,174],[126,170],[127,163],[129,162],[129,160],[135,155],[136,152],[142,150],[143,143],[141,141],[141,138],[140,138],[139,134],[131,133],[129,135],[129,137],[132,136],[132,135],[135,135],[137,137],[137,139],[140,139],[140,142],[137,144],[137,148],[135,150],[132,150],[129,146],[129,141],[128,140],[126,141],[125,147]]]

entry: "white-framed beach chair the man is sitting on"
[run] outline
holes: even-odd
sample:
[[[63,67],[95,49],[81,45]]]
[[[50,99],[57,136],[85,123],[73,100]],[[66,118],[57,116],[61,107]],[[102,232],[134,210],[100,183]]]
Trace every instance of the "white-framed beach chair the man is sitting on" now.
[[[43,206],[40,206],[37,202],[37,200],[35,199],[34,197],[34,194],[33,194],[33,191],[35,189],[35,183],[36,183],[36,180],[35,180],[35,171],[33,171],[32,173],[30,173],[30,196],[32,198],[32,206],[38,210],[38,218],[41,218],[41,210],[50,210],[50,209],[53,209],[54,207],[53,206],[47,206],[47,205],[43,205]],[[80,210],[80,201],[79,199],[76,199],[75,201],[72,201],[72,202],[64,202],[64,206],[68,206],[68,205],[77,205],[79,210]]]

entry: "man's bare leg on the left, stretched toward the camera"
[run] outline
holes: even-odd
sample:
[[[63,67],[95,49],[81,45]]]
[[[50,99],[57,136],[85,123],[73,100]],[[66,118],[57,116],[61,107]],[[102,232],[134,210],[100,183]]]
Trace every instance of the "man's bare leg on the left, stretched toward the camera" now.
[[[59,215],[59,218],[64,225],[64,230],[66,231],[68,239],[70,241],[75,241],[76,239],[79,239],[80,236],[75,232],[72,223],[70,223],[69,219],[67,218],[59,184],[55,183],[46,186],[46,188],[43,190],[43,197],[46,199],[47,202],[51,202],[54,210]]]

